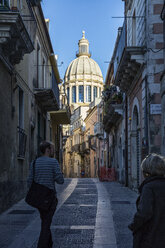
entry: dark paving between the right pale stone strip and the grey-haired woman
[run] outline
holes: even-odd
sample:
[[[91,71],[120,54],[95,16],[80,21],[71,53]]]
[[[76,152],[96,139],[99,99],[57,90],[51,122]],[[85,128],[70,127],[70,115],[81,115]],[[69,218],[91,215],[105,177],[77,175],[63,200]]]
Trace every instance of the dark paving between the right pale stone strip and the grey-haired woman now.
[[[117,248],[132,248],[132,233],[128,224],[136,212],[137,193],[120,183],[103,183],[111,200]]]

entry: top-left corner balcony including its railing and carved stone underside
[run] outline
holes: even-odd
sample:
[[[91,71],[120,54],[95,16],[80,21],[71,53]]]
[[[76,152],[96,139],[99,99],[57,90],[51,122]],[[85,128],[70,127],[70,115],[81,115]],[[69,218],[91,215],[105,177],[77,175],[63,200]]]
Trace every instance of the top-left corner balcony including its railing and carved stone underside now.
[[[28,6],[27,6],[28,8]],[[20,63],[24,54],[33,51],[27,22],[24,23],[19,11],[19,1],[0,1],[0,50],[1,59],[11,69]]]

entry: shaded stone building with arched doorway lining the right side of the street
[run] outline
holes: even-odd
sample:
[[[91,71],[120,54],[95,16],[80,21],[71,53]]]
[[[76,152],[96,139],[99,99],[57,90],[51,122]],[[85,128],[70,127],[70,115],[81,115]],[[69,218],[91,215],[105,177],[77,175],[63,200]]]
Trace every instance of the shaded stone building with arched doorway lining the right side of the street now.
[[[162,0],[125,0],[125,21],[119,29],[110,65],[113,70],[107,72],[109,84],[113,81],[123,93],[124,123],[117,126],[110,122],[109,132],[114,127],[114,147],[118,144],[115,153],[121,154],[124,181],[132,188],[142,181],[142,159],[150,152],[161,153],[162,7]],[[119,144],[121,151],[117,151]],[[122,174],[120,169],[117,171]]]

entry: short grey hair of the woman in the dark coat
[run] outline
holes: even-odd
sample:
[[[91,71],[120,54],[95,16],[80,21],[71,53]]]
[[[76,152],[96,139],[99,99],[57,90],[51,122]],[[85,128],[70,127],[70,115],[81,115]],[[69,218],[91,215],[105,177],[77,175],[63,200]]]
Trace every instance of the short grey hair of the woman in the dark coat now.
[[[141,169],[150,176],[165,176],[165,157],[151,153],[142,161]]]

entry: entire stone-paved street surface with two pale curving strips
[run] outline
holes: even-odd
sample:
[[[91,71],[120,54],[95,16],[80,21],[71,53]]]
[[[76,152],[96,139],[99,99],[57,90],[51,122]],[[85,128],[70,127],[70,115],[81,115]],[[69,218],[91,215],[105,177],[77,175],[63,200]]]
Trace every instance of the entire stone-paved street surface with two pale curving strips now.
[[[117,182],[66,179],[57,185],[59,204],[52,221],[53,248],[131,248],[127,226],[137,194]],[[24,200],[0,215],[0,248],[36,248],[38,212]]]

